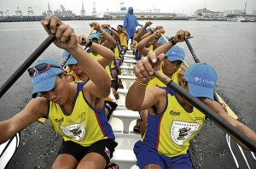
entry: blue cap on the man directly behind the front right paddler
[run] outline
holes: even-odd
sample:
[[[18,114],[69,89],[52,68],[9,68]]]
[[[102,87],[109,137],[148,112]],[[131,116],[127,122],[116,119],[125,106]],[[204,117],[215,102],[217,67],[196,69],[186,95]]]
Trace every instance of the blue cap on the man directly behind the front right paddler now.
[[[185,59],[185,52],[183,51],[183,48],[180,48],[178,46],[173,46],[167,51],[166,57],[171,62],[177,61],[177,60],[180,60],[183,62]]]

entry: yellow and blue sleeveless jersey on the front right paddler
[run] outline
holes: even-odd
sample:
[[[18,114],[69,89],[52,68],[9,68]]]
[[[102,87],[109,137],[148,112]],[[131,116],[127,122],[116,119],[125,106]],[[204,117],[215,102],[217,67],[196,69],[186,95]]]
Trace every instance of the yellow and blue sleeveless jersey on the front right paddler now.
[[[166,109],[159,115],[148,114],[143,142],[162,155],[185,155],[189,149],[189,141],[201,130],[205,115],[195,107],[191,112],[184,110],[177,94],[169,87],[162,88],[167,93]]]

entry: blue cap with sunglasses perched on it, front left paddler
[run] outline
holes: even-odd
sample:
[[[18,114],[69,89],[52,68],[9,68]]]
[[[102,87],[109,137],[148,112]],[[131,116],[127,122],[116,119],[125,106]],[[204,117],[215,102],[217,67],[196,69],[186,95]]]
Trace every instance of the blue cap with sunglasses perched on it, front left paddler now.
[[[35,70],[34,76],[31,77],[33,85],[32,98],[36,98],[37,93],[49,92],[50,90],[52,90],[55,86],[56,76],[60,75],[63,72],[63,69],[61,69],[61,64],[54,59],[41,59],[38,60],[36,65],[40,65],[43,63],[56,65],[60,68],[50,67],[49,70],[45,70],[42,73],[38,73],[38,71]]]

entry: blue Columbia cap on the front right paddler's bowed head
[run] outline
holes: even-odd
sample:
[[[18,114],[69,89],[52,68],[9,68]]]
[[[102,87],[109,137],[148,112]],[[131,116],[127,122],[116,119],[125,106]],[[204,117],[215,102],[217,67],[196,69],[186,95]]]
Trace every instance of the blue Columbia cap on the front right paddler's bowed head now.
[[[217,82],[217,73],[211,65],[197,63],[185,71],[185,80],[189,84],[189,93],[195,97],[213,100],[213,89]]]

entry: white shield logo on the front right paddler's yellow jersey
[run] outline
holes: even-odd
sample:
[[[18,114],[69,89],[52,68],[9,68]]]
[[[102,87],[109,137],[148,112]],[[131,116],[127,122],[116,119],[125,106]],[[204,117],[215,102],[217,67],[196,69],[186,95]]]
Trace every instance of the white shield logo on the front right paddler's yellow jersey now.
[[[192,134],[200,129],[200,124],[195,122],[172,121],[170,135],[172,141],[177,145],[183,143],[190,138]]]

